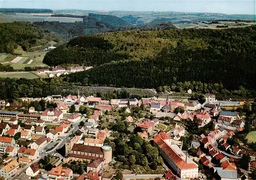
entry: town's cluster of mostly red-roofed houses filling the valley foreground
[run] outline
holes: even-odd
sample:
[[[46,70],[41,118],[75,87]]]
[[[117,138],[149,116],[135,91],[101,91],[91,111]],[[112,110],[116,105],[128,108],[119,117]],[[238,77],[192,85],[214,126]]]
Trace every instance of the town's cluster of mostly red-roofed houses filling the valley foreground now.
[[[23,98],[23,101],[34,101],[38,99]],[[57,108],[48,108],[45,111],[37,112],[34,107],[30,107],[29,113],[24,114],[18,111],[0,111],[0,153],[7,154],[4,166],[0,169],[0,176],[10,178],[17,175],[20,169],[26,166],[23,175],[29,177],[38,176],[41,179],[72,179],[73,171],[68,167],[56,166],[49,173],[41,173],[38,160],[47,152],[44,149],[53,142],[63,142],[65,144],[66,155],[62,157],[62,163],[71,161],[89,162],[86,172],[78,179],[100,179],[102,169],[113,161],[112,147],[104,145],[104,140],[112,133],[108,128],[99,129],[99,117],[105,111],[125,108],[126,113],[131,113],[131,107],[145,107],[154,119],[135,119],[132,115],[127,116],[125,121],[131,126],[139,127],[138,132],[146,141],[153,140],[153,144],[158,148],[166,164],[172,168],[164,175],[166,179],[193,179],[203,178],[199,172],[199,166],[193,161],[191,156],[182,149],[182,137],[186,137],[186,127],[181,122],[198,121],[199,127],[204,127],[209,123],[214,124],[214,130],[207,136],[194,136],[191,147],[197,148],[199,163],[212,169],[219,179],[239,179],[239,172],[234,161],[237,161],[244,154],[249,154],[251,162],[250,171],[255,170],[255,152],[232,147],[227,143],[227,139],[244,129],[245,121],[235,111],[221,110],[220,103],[215,95],[206,94],[206,102],[199,101],[177,101],[160,98],[136,98],[112,99],[110,101],[101,98],[84,95],[69,95],[61,97],[54,95],[44,98],[44,100],[56,102]],[[6,105],[6,102],[2,102]],[[78,111],[81,105],[95,108],[93,114],[85,119],[78,113],[69,113],[71,105]],[[182,113],[175,113],[175,109],[180,107]],[[108,121],[115,121],[113,115],[104,115]],[[160,124],[164,124],[165,118],[173,119],[173,128],[168,132],[160,129]],[[75,124],[85,121],[83,126],[74,128]],[[20,123],[24,123],[23,127]],[[54,128],[47,129],[48,125]],[[77,125],[78,127],[78,125]],[[75,131],[74,131],[75,130]],[[15,141],[15,136],[20,133],[20,137]],[[58,146],[58,145],[57,145]],[[48,149],[54,152],[56,147]],[[59,147],[60,148],[60,147]],[[230,155],[230,153],[232,153]],[[230,158],[234,157],[236,158]],[[20,179],[22,176],[20,176]]]

